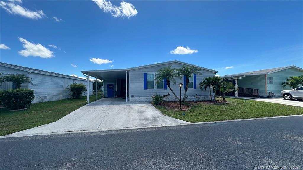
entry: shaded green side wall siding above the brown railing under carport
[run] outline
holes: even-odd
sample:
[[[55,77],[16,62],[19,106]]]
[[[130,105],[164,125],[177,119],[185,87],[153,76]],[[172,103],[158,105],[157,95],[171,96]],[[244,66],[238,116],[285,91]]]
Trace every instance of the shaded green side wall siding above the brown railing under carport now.
[[[242,77],[242,79],[238,79],[238,87],[258,89],[259,96],[267,96],[265,89],[265,74]]]

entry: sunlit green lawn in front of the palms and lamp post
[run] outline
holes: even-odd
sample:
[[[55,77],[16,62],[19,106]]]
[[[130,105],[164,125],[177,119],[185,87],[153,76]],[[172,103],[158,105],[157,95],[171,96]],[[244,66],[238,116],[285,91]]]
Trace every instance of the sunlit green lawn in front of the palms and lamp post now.
[[[221,104],[197,104],[186,111],[155,107],[164,115],[191,123],[303,114],[303,108],[298,106],[233,98],[226,100],[227,103]]]

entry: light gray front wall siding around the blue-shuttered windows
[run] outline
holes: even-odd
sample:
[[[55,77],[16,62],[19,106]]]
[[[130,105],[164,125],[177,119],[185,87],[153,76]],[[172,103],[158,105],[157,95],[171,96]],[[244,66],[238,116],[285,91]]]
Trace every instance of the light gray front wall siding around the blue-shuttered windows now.
[[[161,66],[155,66],[155,67],[148,67],[138,70],[131,70],[129,72],[129,99],[130,101],[150,101],[151,96],[153,94],[160,94],[165,95],[167,93],[170,93],[169,100],[175,100],[174,95],[171,93],[169,88],[166,90],[164,89],[146,89],[144,90],[144,80],[143,80],[143,73],[157,73],[157,70],[159,68],[167,67],[171,65],[171,68],[181,68],[183,65],[174,63],[174,64],[166,64]],[[207,70],[201,70],[202,75],[197,75],[197,89],[188,89],[186,96],[188,96],[188,99],[190,100],[193,98],[195,94],[200,97],[199,100],[209,100],[209,89],[206,91],[199,88],[199,83],[204,79],[204,77],[208,76],[214,76],[215,73]],[[180,96],[180,87],[179,83],[183,83],[183,77],[181,79],[176,79],[176,84],[173,85],[171,82],[171,88],[175,92],[177,96]],[[184,89],[182,87],[181,92],[182,98],[184,95]]]

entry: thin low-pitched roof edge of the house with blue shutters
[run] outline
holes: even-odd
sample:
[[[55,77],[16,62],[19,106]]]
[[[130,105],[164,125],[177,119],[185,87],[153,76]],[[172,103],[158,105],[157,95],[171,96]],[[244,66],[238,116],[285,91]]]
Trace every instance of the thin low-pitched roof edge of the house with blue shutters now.
[[[143,65],[143,66],[138,66],[138,67],[130,67],[130,68],[126,68],[126,69],[110,69],[110,70],[85,70],[85,71],[81,71],[82,73],[91,73],[91,72],[102,72],[102,71],[126,71],[126,70],[137,70],[137,69],[142,69],[142,68],[147,68],[147,67],[155,67],[155,66],[161,66],[161,65],[165,65],[165,64],[173,64],[173,63],[178,63],[178,64],[183,64],[183,65],[187,65],[187,66],[191,66],[193,64],[188,64],[188,63],[184,63],[178,60],[173,60],[173,61],[167,61],[167,62],[162,62],[162,63],[156,63],[156,64],[148,64],[148,65]],[[214,73],[218,73],[218,71],[216,70],[211,70],[205,67],[200,67],[197,66],[198,68],[202,69],[202,70],[207,70],[207,71],[211,71]]]

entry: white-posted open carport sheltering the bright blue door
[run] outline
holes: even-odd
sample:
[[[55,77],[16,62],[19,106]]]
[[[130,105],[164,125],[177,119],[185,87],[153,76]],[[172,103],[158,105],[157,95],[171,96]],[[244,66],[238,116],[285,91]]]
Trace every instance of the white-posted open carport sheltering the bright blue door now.
[[[89,84],[89,77],[94,77],[101,80],[104,84],[104,96],[105,97],[120,97],[125,98],[125,102],[128,99],[129,89],[129,71],[127,69],[113,69],[113,70],[88,70],[82,71],[85,77],[88,77],[87,83]],[[87,86],[89,87],[89,86]],[[89,103],[89,88],[87,93],[87,101]],[[97,86],[96,86],[97,91]],[[102,99],[102,95],[101,95]],[[96,93],[97,100],[97,93]]]

